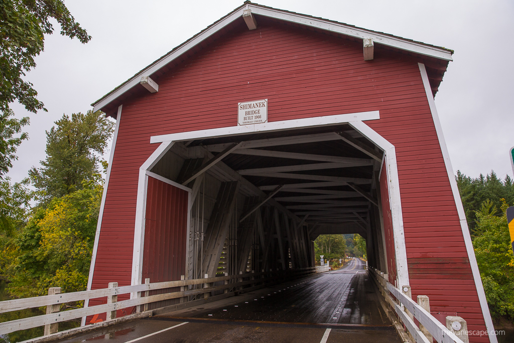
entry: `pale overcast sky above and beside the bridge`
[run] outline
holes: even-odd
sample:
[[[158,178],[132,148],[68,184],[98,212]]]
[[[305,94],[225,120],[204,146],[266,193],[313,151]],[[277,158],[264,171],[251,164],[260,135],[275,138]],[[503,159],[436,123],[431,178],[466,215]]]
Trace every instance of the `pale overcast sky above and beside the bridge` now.
[[[512,177],[514,146],[514,2],[259,0],[261,5],[310,14],[455,50],[435,97],[454,171],[476,177],[494,170]],[[93,39],[56,33],[45,40],[27,75],[48,113],[30,116],[30,139],[9,175],[27,176],[45,158],[45,130],[63,114],[85,112],[137,71],[186,41],[239,1],[68,0],[66,6]]]

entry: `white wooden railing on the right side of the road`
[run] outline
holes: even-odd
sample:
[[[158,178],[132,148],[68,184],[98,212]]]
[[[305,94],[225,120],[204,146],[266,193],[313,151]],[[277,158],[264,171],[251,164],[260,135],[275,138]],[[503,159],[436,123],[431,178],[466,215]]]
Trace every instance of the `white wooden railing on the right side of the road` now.
[[[406,286],[406,290],[409,291],[408,296],[389,282],[387,274],[380,272],[378,269],[369,268],[368,270],[373,275],[386,302],[394,309],[394,312],[407,329],[411,340],[416,343],[432,343],[433,337],[439,343],[464,343],[461,338],[440,323],[430,312],[411,299],[410,287]],[[414,318],[419,321],[422,327],[416,325]],[[425,333],[421,330],[424,330]]]

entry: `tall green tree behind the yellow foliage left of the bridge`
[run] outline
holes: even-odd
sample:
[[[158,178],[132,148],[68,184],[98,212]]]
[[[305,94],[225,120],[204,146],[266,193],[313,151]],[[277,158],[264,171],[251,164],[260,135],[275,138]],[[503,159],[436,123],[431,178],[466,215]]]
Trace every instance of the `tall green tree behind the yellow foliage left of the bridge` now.
[[[46,159],[29,171],[39,200],[47,204],[82,188],[83,180],[99,177],[98,165],[112,136],[114,123],[97,111],[64,115],[46,132]]]

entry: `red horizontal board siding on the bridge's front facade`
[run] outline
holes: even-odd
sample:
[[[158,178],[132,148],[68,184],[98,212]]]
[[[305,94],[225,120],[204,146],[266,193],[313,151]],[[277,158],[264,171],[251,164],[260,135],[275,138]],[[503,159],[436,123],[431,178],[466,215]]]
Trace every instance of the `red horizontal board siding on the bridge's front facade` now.
[[[363,61],[362,42],[259,25],[234,28],[157,79],[159,92],[123,103],[93,288],[130,284],[138,171],[158,146],[150,137],[234,126],[238,102],[267,98],[269,121],[380,111],[367,124],[396,147],[413,297],[486,330],[418,60],[376,46]],[[451,271],[436,267],[448,261]]]

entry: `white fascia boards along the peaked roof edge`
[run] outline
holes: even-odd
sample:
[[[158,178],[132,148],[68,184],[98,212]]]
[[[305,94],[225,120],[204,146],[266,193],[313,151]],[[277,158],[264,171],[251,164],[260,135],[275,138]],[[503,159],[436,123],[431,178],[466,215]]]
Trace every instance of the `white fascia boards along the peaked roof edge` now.
[[[330,22],[324,19],[319,19],[308,15],[282,11],[279,9],[265,8],[256,4],[247,4],[235,9],[232,13],[229,13],[223,19],[217,21],[204,31],[198,33],[194,38],[190,39],[189,41],[186,41],[182,45],[179,45],[178,47],[170,51],[168,55],[162,57],[157,62],[141,70],[140,73],[136,74],[130,80],[126,81],[118,89],[116,89],[116,91],[112,92],[109,95],[106,95],[98,102],[94,103],[93,111],[102,109],[102,107],[108,105],[116,98],[127,92],[129,89],[136,86],[141,81],[141,77],[152,75],[163,66],[167,65],[168,63],[175,60],[177,57],[181,56],[186,51],[200,44],[201,42],[208,39],[219,30],[223,29],[230,23],[239,19],[243,16],[244,11],[248,9],[251,10],[251,12],[254,14],[272,17],[274,19],[284,20],[287,22],[314,27],[330,32],[337,32],[357,39],[372,39],[375,43],[395,47],[401,50],[411,51],[414,53],[419,53],[420,55],[435,57],[437,59],[442,59],[445,61],[452,61],[451,52],[442,48],[429,46],[423,43],[416,43],[407,39],[393,37],[388,34],[357,28],[351,25]]]

